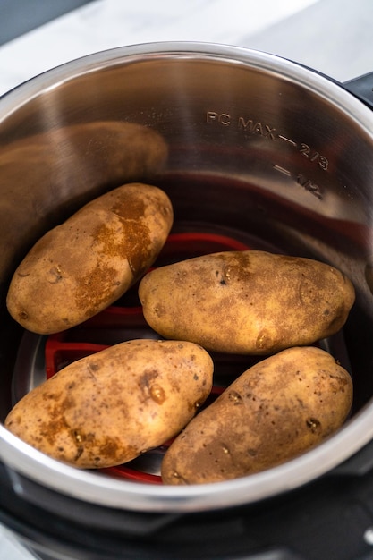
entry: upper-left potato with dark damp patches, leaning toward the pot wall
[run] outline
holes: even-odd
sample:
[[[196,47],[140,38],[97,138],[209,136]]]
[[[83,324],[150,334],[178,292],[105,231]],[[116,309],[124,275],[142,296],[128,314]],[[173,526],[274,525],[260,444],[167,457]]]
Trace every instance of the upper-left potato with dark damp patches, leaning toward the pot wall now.
[[[170,199],[151,185],[129,183],[94,199],[23,259],[7,295],[10,314],[39,334],[80,324],[140,278],[172,223]]]

